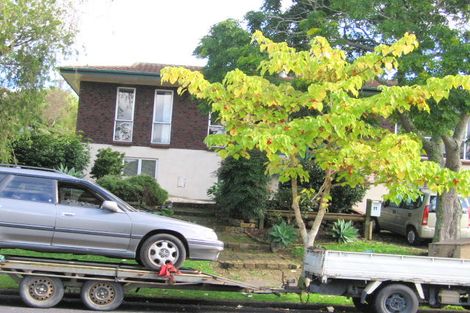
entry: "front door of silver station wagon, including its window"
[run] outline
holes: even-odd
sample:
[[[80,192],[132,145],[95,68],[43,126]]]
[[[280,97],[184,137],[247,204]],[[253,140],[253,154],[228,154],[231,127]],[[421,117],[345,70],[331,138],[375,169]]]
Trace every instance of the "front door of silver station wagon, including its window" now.
[[[101,208],[106,196],[83,183],[58,182],[57,222],[52,244],[79,250],[127,250],[131,220]]]

